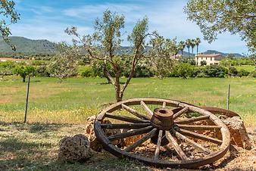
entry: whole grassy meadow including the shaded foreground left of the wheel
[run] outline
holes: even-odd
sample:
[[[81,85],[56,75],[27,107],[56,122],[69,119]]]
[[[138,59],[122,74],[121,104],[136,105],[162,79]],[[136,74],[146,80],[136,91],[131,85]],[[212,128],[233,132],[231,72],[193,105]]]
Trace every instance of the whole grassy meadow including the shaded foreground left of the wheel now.
[[[59,82],[55,78],[31,78],[27,124],[23,124],[27,83],[17,76],[6,79],[0,82],[0,170],[151,169],[106,152],[94,152],[86,163],[56,160],[61,138],[83,133],[87,117],[114,103],[114,88],[105,79],[70,78]],[[226,108],[228,84],[231,85],[230,110],[239,113],[247,127],[256,126],[253,78],[135,78],[124,99],[171,98]]]

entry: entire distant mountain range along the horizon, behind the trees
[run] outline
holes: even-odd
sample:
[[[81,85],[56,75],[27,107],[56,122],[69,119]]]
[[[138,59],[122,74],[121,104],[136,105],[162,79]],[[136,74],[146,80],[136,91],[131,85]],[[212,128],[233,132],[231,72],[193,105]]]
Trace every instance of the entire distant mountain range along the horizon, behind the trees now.
[[[12,51],[11,47],[5,43],[3,39],[0,39],[0,53],[35,53],[35,54],[52,54],[55,51],[55,43],[50,42],[46,39],[39,39],[39,40],[33,40],[33,39],[27,39],[20,36],[10,36],[9,39],[11,40],[11,43],[13,45],[16,45],[17,50]],[[129,46],[123,46],[121,47],[122,50],[127,50],[130,47]],[[148,47],[150,48],[150,47]],[[181,54],[181,51],[179,52]],[[191,53],[192,54],[192,53]],[[220,51],[215,50],[208,50],[204,51],[201,54],[222,54],[223,56],[227,56],[232,53],[223,53]],[[189,53],[187,51],[183,51],[184,56],[189,56]],[[242,54],[233,54],[236,58],[241,58]]]

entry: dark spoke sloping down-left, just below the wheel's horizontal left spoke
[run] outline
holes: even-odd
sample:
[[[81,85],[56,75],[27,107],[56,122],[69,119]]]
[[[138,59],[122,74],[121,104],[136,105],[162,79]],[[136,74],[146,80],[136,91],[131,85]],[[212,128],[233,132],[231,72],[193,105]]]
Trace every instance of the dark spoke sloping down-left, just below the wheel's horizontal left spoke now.
[[[113,140],[116,140],[116,139],[119,139],[119,138],[126,138],[126,137],[133,136],[133,135],[144,134],[144,133],[147,133],[147,132],[151,131],[151,129],[153,129],[153,126],[147,126],[145,128],[136,129],[136,130],[132,130],[132,131],[129,131],[129,132],[123,132],[123,133],[119,133],[119,134],[116,134],[116,135],[111,135],[111,136],[108,137],[108,139],[110,141],[113,141]]]

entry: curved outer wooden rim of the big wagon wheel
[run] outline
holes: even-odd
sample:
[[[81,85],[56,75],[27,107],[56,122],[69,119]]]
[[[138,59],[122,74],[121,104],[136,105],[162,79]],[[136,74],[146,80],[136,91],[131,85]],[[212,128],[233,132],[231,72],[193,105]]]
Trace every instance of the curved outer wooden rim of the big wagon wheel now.
[[[139,105],[140,101],[144,101],[145,104],[158,104],[163,105],[166,102],[167,106],[172,107],[189,107],[189,111],[200,113],[203,116],[208,116],[208,119],[213,121],[215,125],[221,126],[220,129],[222,135],[223,143],[218,147],[217,151],[212,152],[211,154],[205,155],[204,157],[198,157],[195,160],[154,160],[154,158],[148,157],[147,155],[133,154],[122,149],[118,148],[116,145],[113,145],[111,141],[108,140],[108,137],[101,129],[99,122],[101,122],[105,118],[105,113],[111,113],[115,110],[121,108],[121,104],[130,105]],[[178,121],[178,120],[176,120]],[[153,129],[153,128],[152,128]],[[150,130],[149,130],[150,131]],[[148,132],[149,132],[148,131]],[[182,101],[172,101],[168,99],[159,99],[159,98],[134,98],[126,101],[120,101],[116,104],[112,104],[110,107],[105,108],[98,114],[97,120],[95,121],[95,135],[98,141],[101,142],[106,151],[109,151],[111,154],[114,154],[117,157],[128,157],[130,159],[141,161],[145,164],[149,164],[151,166],[160,166],[160,167],[179,167],[179,168],[198,168],[198,166],[202,166],[205,164],[213,163],[214,161],[220,159],[226,154],[226,151],[229,149],[230,135],[229,130],[226,125],[214,114],[208,112],[206,110],[202,110],[199,107],[193,106],[192,104],[186,104]],[[162,140],[163,141],[163,140]]]

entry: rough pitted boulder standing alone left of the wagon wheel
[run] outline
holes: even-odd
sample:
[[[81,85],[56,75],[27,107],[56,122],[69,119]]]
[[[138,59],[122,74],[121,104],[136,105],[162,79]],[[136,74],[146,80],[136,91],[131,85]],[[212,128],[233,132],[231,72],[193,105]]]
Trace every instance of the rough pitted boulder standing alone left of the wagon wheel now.
[[[59,141],[58,160],[64,162],[83,162],[91,157],[89,139],[82,134],[64,137]]]

